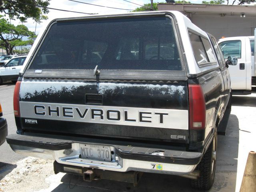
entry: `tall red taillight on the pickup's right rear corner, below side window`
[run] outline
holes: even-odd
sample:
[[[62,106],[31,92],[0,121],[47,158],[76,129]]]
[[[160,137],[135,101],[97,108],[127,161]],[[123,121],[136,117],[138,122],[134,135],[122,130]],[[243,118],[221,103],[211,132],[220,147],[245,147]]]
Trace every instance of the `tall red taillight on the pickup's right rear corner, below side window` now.
[[[196,84],[188,85],[189,94],[189,128],[204,129],[206,106],[202,87]]]

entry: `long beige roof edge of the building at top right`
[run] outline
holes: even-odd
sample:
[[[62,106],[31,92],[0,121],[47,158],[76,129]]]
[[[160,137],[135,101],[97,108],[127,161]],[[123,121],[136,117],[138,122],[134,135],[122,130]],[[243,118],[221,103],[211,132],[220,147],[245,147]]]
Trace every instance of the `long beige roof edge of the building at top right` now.
[[[158,10],[176,10],[192,14],[213,15],[248,15],[256,16],[256,6],[249,5],[222,5],[222,4],[190,4],[190,3],[159,3]],[[223,16],[224,16],[223,15]]]

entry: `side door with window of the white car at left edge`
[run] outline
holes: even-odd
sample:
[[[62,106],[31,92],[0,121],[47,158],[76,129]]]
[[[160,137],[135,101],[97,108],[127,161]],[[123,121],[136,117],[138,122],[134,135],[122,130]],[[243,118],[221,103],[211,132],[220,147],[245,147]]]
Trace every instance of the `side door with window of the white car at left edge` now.
[[[19,60],[20,58],[14,58],[5,65],[5,69],[1,71],[1,76],[4,80],[13,80],[17,77],[16,67]]]

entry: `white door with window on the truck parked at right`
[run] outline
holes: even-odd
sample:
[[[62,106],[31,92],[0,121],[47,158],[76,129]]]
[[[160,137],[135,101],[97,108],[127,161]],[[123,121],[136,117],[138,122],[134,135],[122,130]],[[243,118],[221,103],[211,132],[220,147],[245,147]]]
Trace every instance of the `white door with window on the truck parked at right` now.
[[[246,45],[244,38],[236,40],[226,40],[219,42],[220,49],[225,60],[228,56],[236,57],[237,62],[229,65],[229,73],[231,79],[231,88],[233,90],[246,90]]]

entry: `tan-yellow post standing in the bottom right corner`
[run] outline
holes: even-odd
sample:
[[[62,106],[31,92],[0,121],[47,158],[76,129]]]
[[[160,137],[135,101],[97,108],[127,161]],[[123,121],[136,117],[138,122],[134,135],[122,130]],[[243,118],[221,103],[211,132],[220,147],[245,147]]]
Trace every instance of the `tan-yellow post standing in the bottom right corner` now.
[[[249,152],[240,192],[256,192],[256,152],[254,151]]]

